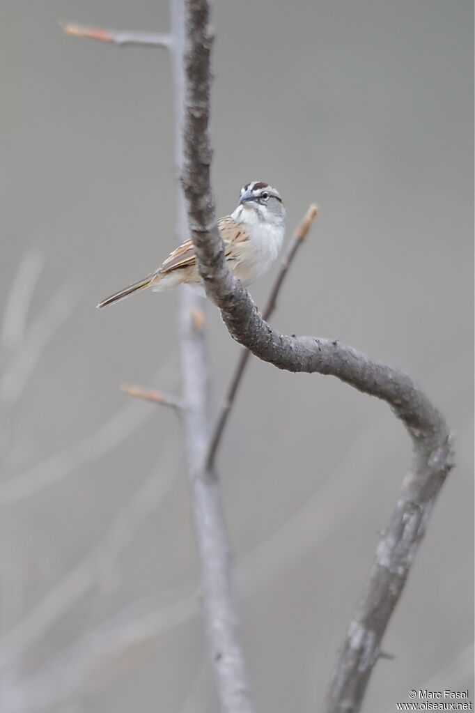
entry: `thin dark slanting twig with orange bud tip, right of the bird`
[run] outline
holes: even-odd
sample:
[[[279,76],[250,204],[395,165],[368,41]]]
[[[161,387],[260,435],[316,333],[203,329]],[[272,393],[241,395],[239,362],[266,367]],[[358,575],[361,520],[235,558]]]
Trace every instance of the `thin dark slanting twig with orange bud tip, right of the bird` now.
[[[303,240],[305,240],[310,226],[318,215],[318,208],[316,205],[310,205],[306,215],[302,218],[301,222],[298,224],[296,231],[293,234],[291,242],[288,244],[287,252],[282,258],[281,269],[271,287],[271,292],[269,293],[268,300],[266,302],[266,307],[263,309],[263,319],[268,320],[271,317],[274,309],[276,309],[277,297],[280,289],[282,287],[283,281],[287,275],[288,268],[291,266],[293,258],[296,256],[298,248],[302,245]],[[249,349],[242,349],[241,355],[234,369],[234,374],[229,382],[228,390],[226,391],[226,396],[224,396],[223,403],[221,404],[221,411],[216,419],[216,424],[212,432],[212,437],[209,441],[209,448],[207,453],[206,467],[208,471],[212,471],[214,468],[214,461],[216,460],[216,453],[221,443],[221,437],[226,426],[229,413],[234,404],[234,399],[236,398],[236,393],[239,389],[239,384],[241,384],[242,377],[244,376],[244,371],[246,369],[246,364],[249,361],[249,356],[251,352]]]

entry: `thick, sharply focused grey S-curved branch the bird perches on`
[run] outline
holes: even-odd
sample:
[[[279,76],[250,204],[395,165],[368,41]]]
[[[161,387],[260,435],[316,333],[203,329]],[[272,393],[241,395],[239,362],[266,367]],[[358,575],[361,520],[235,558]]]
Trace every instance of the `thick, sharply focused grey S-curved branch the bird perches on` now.
[[[395,511],[378,545],[328,691],[328,713],[356,712],[429,513],[454,464],[452,436],[442,414],[409,376],[338,341],[281,334],[265,322],[246,289],[229,272],[209,179],[209,9],[204,0],[189,0],[188,8],[187,161],[183,185],[194,250],[208,297],[221,310],[231,337],[259,359],[287,371],[336,376],[365,394],[377,396],[387,402],[412,438],[412,470],[404,478]]]

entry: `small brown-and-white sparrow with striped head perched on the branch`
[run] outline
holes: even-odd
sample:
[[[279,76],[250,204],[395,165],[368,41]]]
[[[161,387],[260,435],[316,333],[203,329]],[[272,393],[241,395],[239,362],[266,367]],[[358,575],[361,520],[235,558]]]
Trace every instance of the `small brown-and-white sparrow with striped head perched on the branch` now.
[[[225,260],[247,287],[268,270],[281,250],[286,232],[286,209],[281,196],[263,181],[247,183],[241,188],[236,209],[218,220],[218,229]],[[160,292],[178,284],[200,282],[193,243],[186,240],[155,272],[106,297],[97,307],[106,307],[147,287]]]

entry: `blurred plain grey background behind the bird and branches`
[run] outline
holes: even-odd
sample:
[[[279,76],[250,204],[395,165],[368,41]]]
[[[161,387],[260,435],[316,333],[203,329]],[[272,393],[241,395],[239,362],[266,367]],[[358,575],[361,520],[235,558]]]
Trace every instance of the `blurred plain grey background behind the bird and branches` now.
[[[0,709],[213,713],[179,422],[118,388],[179,393],[177,292],[94,309],[174,247],[169,57],[61,20],[169,27],[165,0],[1,9]],[[289,235],[320,206],[274,324],[409,372],[456,433],[364,709],[466,689],[472,3],[224,0],[214,21],[219,215],[254,179],[283,195]],[[238,347],[207,322],[217,409]],[[385,404],[251,361],[219,471],[259,710],[320,707],[409,462]]]

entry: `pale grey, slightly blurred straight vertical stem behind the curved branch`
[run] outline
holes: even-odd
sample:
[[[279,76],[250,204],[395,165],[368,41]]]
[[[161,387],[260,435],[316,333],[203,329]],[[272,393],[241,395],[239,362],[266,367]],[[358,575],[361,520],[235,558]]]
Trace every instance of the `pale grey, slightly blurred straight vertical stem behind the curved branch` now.
[[[180,175],[184,160],[184,0],[171,0],[172,73],[175,107],[176,230],[187,238],[187,212]],[[219,479],[204,465],[209,445],[209,361],[205,301],[187,285],[180,295],[179,319],[184,396],[184,440],[194,530],[201,573],[202,602],[219,707],[223,713],[253,713],[244,657],[231,593],[229,540],[224,523]]]

